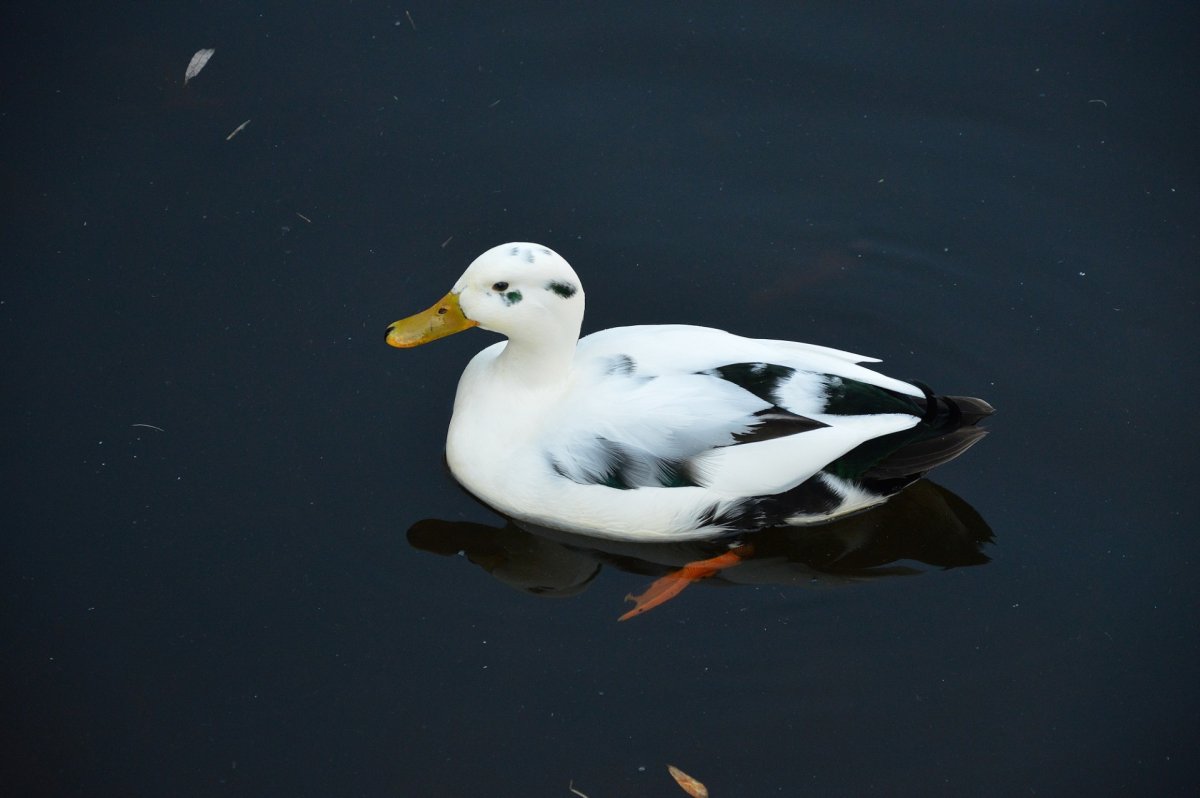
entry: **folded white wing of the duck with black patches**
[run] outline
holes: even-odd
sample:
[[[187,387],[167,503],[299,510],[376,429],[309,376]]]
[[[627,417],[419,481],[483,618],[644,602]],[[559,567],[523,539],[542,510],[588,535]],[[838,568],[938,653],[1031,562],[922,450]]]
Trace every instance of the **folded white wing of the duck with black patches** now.
[[[785,493],[922,421],[925,392],[858,365],[868,360],[708,328],[606,330],[580,342],[576,385],[542,448],[582,485]]]

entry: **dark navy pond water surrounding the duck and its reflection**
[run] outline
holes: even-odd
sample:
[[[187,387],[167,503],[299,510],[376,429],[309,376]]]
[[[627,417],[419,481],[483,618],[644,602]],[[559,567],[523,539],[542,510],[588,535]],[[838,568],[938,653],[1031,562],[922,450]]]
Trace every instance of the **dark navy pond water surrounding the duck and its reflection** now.
[[[1195,788],[1194,6],[6,17],[5,794]],[[990,562],[618,624],[618,560],[538,595],[410,542],[503,523],[442,462],[492,336],[384,326],[509,240],[576,266],[587,330],[991,401],[936,476]]]

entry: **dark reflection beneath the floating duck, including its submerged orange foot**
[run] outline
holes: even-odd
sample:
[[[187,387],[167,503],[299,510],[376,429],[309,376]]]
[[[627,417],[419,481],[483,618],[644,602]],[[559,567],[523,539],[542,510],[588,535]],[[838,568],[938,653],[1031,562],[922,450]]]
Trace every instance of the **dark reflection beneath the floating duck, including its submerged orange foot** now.
[[[658,577],[620,620],[647,612],[692,583],[844,586],[931,569],[982,565],[988,523],[950,491],[922,480],[881,506],[829,523],[780,527],[733,540],[668,544],[426,520],[408,530],[413,547],[466,554],[500,582],[540,596],[574,596],[605,565]],[[737,565],[737,568],[732,568]]]

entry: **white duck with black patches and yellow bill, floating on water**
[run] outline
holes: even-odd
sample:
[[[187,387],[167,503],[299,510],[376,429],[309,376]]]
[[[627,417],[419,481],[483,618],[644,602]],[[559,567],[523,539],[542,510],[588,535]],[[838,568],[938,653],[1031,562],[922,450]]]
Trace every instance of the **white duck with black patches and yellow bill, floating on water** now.
[[[647,541],[822,522],[962,454],[992,412],[838,349],[685,325],[581,340],[582,320],[566,260],[505,244],[388,331],[394,347],[472,326],[508,337],[463,372],[446,460],[520,521]]]

